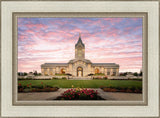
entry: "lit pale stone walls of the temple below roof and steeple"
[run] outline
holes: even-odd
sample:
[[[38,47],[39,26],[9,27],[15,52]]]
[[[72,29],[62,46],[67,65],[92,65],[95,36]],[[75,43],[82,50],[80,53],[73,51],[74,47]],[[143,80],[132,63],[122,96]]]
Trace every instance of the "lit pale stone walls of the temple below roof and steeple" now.
[[[106,67],[106,66],[92,66],[92,64],[87,64],[84,61],[77,61],[73,64],[68,64],[68,66],[52,66],[52,67],[42,67],[41,73],[42,75],[55,75],[56,73],[62,73],[62,70],[65,73],[70,73],[73,76],[77,76],[77,68],[83,68],[83,77],[88,74],[95,74],[98,70],[98,73],[104,73],[106,76],[118,76],[119,75],[119,67]]]

